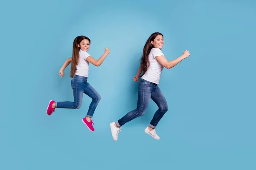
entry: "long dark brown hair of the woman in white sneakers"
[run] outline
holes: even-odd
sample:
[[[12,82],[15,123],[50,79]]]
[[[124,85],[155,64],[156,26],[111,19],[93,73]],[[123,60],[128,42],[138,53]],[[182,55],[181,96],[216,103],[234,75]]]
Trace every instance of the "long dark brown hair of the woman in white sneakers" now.
[[[143,54],[140,59],[140,67],[142,68],[143,74],[145,74],[149,67],[148,54],[150,53],[151,49],[154,48],[154,46],[151,44],[151,41],[154,41],[157,35],[163,36],[163,34],[161,34],[160,32],[154,32],[153,34],[151,34],[151,36],[148,38],[147,42],[144,45]]]

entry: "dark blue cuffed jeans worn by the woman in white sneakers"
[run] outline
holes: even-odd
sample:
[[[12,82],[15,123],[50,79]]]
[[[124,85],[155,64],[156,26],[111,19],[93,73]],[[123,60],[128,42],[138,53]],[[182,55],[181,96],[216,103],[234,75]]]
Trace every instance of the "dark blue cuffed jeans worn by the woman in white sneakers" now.
[[[158,88],[157,84],[148,82],[144,79],[140,79],[139,83],[139,96],[137,108],[133,111],[130,111],[121,119],[116,121],[117,127],[121,127],[125,123],[131,121],[132,119],[137,118],[138,116],[143,116],[148,108],[148,104],[150,98],[157,104],[158,110],[153,116],[149,127],[155,128],[163,117],[163,115],[168,111],[168,105],[166,102],[166,98],[163,96],[160,88]]]

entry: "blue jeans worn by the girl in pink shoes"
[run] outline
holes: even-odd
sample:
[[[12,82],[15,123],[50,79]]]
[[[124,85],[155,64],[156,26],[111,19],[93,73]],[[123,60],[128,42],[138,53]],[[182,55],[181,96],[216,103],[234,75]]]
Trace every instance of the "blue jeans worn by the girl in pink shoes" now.
[[[93,113],[100,101],[100,96],[96,90],[87,82],[87,77],[74,75],[71,79],[71,87],[73,89],[74,102],[56,102],[56,108],[79,109],[82,104],[83,94],[87,94],[92,98],[92,102],[87,112],[87,117],[93,117]]]

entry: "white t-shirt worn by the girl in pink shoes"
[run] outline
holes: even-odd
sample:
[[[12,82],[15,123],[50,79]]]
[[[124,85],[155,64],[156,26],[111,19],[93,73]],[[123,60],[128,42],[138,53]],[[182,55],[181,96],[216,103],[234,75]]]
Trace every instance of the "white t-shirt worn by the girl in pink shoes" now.
[[[88,77],[89,74],[89,62],[86,61],[90,54],[87,51],[79,50],[79,63],[76,65],[76,75]]]

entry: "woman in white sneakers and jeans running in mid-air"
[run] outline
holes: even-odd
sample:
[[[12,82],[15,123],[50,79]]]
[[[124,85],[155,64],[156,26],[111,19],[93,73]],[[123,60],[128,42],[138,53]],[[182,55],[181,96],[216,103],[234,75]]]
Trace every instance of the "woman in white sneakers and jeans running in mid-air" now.
[[[153,119],[148,127],[145,128],[145,133],[152,136],[154,139],[159,140],[160,137],[154,130],[160,119],[168,111],[168,105],[163,93],[158,87],[160,81],[160,75],[163,68],[170,69],[177,65],[183,59],[189,57],[189,51],[183,51],[183,55],[170,62],[164,57],[161,49],[163,48],[163,34],[155,32],[151,34],[145,43],[143,49],[143,56],[141,58],[140,68],[137,75],[133,78],[135,82],[138,81],[140,74],[143,72],[143,76],[139,82],[139,96],[137,102],[137,108],[130,111],[121,119],[110,124],[112,137],[115,141],[118,139],[119,132],[122,125],[137,118],[143,116],[148,108],[150,98],[157,104],[158,110],[155,112]]]

